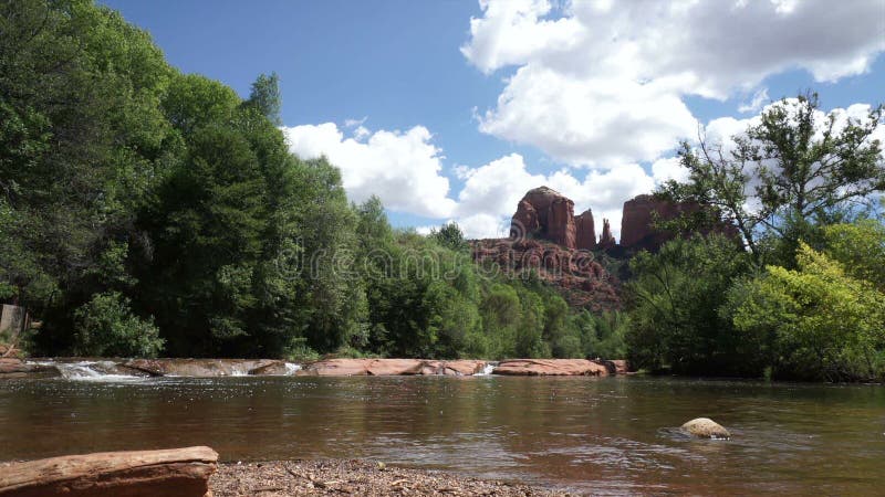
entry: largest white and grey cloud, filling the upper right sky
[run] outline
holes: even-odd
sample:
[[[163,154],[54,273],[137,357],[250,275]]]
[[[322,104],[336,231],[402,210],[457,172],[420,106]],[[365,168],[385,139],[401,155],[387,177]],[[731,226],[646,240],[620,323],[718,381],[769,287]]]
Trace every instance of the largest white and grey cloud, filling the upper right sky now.
[[[687,95],[723,99],[791,68],[832,82],[885,50],[878,0],[563,6],[481,0],[461,52],[485,73],[517,67],[480,130],[571,165],[657,159],[695,136]]]

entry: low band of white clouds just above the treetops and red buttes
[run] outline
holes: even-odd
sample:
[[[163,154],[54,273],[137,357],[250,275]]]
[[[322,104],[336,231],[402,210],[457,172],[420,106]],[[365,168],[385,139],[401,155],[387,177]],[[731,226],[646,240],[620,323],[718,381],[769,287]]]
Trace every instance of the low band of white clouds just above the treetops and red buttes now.
[[[788,99],[792,105],[798,101]],[[774,103],[767,105],[762,112]],[[839,131],[851,119],[865,119],[871,106],[855,104],[833,109]],[[722,148],[726,155],[735,147],[732,137],[760,123],[760,115],[747,118],[721,117],[704,128],[708,144]],[[825,115],[815,116],[825,123]],[[335,124],[304,125],[283,128],[293,152],[305,158],[326,156],[342,170],[348,197],[362,201],[378,194],[393,211],[408,212],[433,219],[457,222],[468,237],[507,236],[510,216],[519,200],[532,188],[545,184],[575,202],[575,213],[592,209],[597,231],[608,219],[613,234],[620,237],[623,203],[653,191],[669,179],[684,181],[687,170],[677,157],[659,157],[645,167],[637,162],[616,162],[608,168],[589,170],[562,169],[532,172],[520,154],[510,154],[488,163],[471,167],[451,166],[451,172],[462,182],[457,195],[450,192],[448,179],[441,175],[440,149],[433,144],[431,134],[423,126],[408,131],[371,131],[355,124],[351,137]],[[819,138],[822,129],[818,130]],[[885,142],[885,125],[879,125],[871,139]],[[752,170],[747,173],[752,176]],[[752,184],[751,184],[752,187]],[[748,191],[751,193],[751,191]],[[431,226],[417,228],[429,233]]]

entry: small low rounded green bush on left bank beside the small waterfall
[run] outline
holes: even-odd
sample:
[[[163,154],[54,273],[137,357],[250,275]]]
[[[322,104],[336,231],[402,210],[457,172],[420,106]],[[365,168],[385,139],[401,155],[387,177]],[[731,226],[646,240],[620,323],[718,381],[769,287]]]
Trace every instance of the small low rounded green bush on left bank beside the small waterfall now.
[[[79,356],[156,357],[164,340],[153,319],[132,313],[118,293],[96,294],[74,313],[74,353]]]

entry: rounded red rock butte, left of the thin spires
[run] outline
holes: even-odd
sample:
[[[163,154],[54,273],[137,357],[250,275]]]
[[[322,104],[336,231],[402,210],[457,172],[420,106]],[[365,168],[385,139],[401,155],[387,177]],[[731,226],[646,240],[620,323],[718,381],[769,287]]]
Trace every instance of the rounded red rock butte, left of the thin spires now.
[[[510,237],[532,236],[575,248],[574,202],[548,187],[529,190],[510,222]]]

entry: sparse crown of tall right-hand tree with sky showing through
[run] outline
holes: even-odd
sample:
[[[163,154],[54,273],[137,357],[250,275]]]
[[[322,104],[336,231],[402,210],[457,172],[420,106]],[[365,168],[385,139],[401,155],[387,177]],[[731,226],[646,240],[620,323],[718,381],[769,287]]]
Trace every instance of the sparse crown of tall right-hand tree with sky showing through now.
[[[784,98],[733,137],[731,151],[684,142],[679,158],[689,179],[658,193],[715,208],[693,213],[688,228],[729,223],[758,261],[792,266],[800,240],[885,189],[882,144],[873,139],[882,123],[881,106],[857,119],[822,113],[816,94]]]

